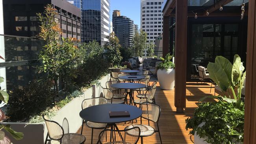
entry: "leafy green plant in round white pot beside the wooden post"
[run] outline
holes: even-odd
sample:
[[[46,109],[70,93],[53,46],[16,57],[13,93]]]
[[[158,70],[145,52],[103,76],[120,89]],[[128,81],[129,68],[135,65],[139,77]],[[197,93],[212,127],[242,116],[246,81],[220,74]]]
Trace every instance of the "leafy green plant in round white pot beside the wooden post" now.
[[[163,90],[172,90],[174,88],[174,80],[175,80],[175,73],[174,73],[174,63],[171,61],[173,58],[172,55],[167,54],[165,59],[160,57],[163,61],[157,66],[157,77],[160,84],[160,88]]]

